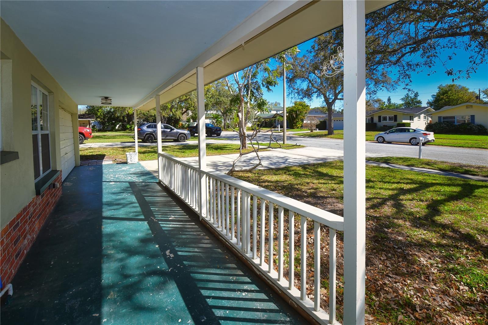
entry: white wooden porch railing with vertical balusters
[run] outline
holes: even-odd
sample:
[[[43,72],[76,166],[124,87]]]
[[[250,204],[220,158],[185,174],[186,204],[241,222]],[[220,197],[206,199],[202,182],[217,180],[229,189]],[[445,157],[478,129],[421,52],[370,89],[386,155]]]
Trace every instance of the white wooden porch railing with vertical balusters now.
[[[158,153],[159,180],[174,194],[180,197],[195,212],[200,213],[199,170],[197,166],[180,161],[178,158]],[[319,323],[336,324],[336,231],[344,230],[344,218],[309,204],[285,197],[257,185],[244,182],[214,170],[201,171],[205,175],[206,211],[202,218],[206,223],[222,234],[222,237],[236,248],[255,269],[279,287],[297,305],[300,305]],[[251,204],[252,202],[252,204]],[[266,206],[268,231],[265,229]],[[252,210],[252,213],[251,213]],[[284,263],[284,222],[285,210],[288,211],[288,263]],[[277,216],[275,215],[277,211]],[[260,229],[258,231],[258,215]],[[300,250],[300,290],[295,287],[294,242],[295,215],[301,219]],[[278,250],[273,244],[273,223],[278,219]],[[273,222],[270,222],[272,220]],[[306,227],[313,222],[314,229],[314,284],[313,299],[306,294]],[[329,312],[320,305],[320,254],[321,226],[329,228]],[[258,243],[259,236],[259,243]],[[268,244],[267,262],[265,246]],[[270,258],[271,257],[271,258]],[[277,257],[277,269],[273,261]],[[288,269],[288,280],[283,276]]]

